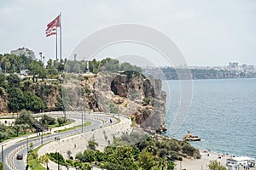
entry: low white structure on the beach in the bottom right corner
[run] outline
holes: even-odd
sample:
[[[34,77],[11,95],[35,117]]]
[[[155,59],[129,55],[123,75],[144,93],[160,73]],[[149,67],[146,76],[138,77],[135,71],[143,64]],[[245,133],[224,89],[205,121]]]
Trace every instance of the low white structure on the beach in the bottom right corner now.
[[[226,166],[228,170],[238,170],[241,168],[248,168],[255,166],[255,160],[251,157],[240,156],[240,157],[231,157],[227,159]]]

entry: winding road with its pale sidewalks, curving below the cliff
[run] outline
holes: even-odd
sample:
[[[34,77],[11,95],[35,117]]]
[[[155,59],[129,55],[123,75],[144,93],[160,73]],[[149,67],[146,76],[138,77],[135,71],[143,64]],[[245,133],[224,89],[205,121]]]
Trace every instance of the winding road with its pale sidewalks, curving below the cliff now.
[[[82,112],[69,112],[67,113],[67,118],[73,119],[75,122],[72,123],[71,126],[67,127],[73,127],[76,125],[81,125],[81,114]],[[45,113],[44,113],[45,114]],[[58,117],[63,116],[63,114],[50,114],[51,116]],[[86,112],[84,114],[84,122],[91,122],[90,126],[83,127],[83,133],[86,133],[88,131],[95,130],[97,128],[102,127],[108,127],[111,124],[115,124],[118,122],[116,118],[113,117],[111,114],[96,114],[96,113],[88,113]],[[66,127],[59,127],[61,129]],[[42,135],[37,137],[37,134],[32,134],[27,137],[20,137],[18,139],[10,140],[7,142],[4,142],[3,145],[3,166],[4,170],[23,170],[26,169],[26,156],[27,156],[27,150],[29,150],[30,144],[33,144],[33,148],[37,148],[41,144],[46,144],[52,141],[55,141],[55,139],[64,139],[68,136],[75,135],[78,133],[82,133],[82,128],[76,128],[73,130],[67,130],[61,133],[55,133],[56,129],[51,130],[53,133],[50,133],[49,135]],[[46,132],[45,132],[46,133]],[[42,141],[43,140],[43,141]],[[17,160],[16,156],[17,154],[23,155],[23,160]],[[1,150],[1,156],[2,156],[2,150]]]

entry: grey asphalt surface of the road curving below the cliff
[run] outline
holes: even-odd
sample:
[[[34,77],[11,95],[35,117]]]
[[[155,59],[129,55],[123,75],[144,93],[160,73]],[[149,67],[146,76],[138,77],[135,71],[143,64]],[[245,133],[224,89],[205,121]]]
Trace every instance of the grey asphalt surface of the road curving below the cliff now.
[[[81,116],[81,113],[75,113],[73,115],[68,115],[67,117],[69,119],[74,119],[75,121],[81,121],[80,116]],[[90,114],[90,115],[86,114],[86,116],[87,116],[86,122],[89,121],[92,123],[90,126],[84,127],[83,132],[87,132],[87,131],[90,131],[90,130],[93,130],[96,128],[100,128],[102,126],[108,126],[109,124],[113,124],[117,121],[116,119],[114,119],[113,117],[110,117],[110,116],[98,116],[96,114]],[[110,119],[111,119],[112,123],[111,123]],[[66,138],[67,136],[70,136],[75,133],[81,133],[81,132],[82,132],[82,128],[80,127],[80,128],[68,130],[68,131],[65,131],[62,133],[52,133],[49,135],[45,135],[45,136],[43,136],[43,144],[48,143],[50,141],[54,141],[55,138]],[[37,148],[38,146],[40,146],[42,144],[42,136],[38,136],[37,138],[19,141],[12,145],[3,146],[4,170],[26,169],[27,148],[29,149],[31,143],[33,144],[34,149]],[[15,155],[10,154],[15,149],[19,150],[19,151],[15,152]],[[1,154],[2,154],[2,151],[1,151]],[[23,160],[17,160],[16,159],[17,154],[22,154]],[[9,160],[9,162],[11,162],[9,164],[13,163],[13,165],[15,167],[9,167],[8,162],[7,162],[8,160]]]

